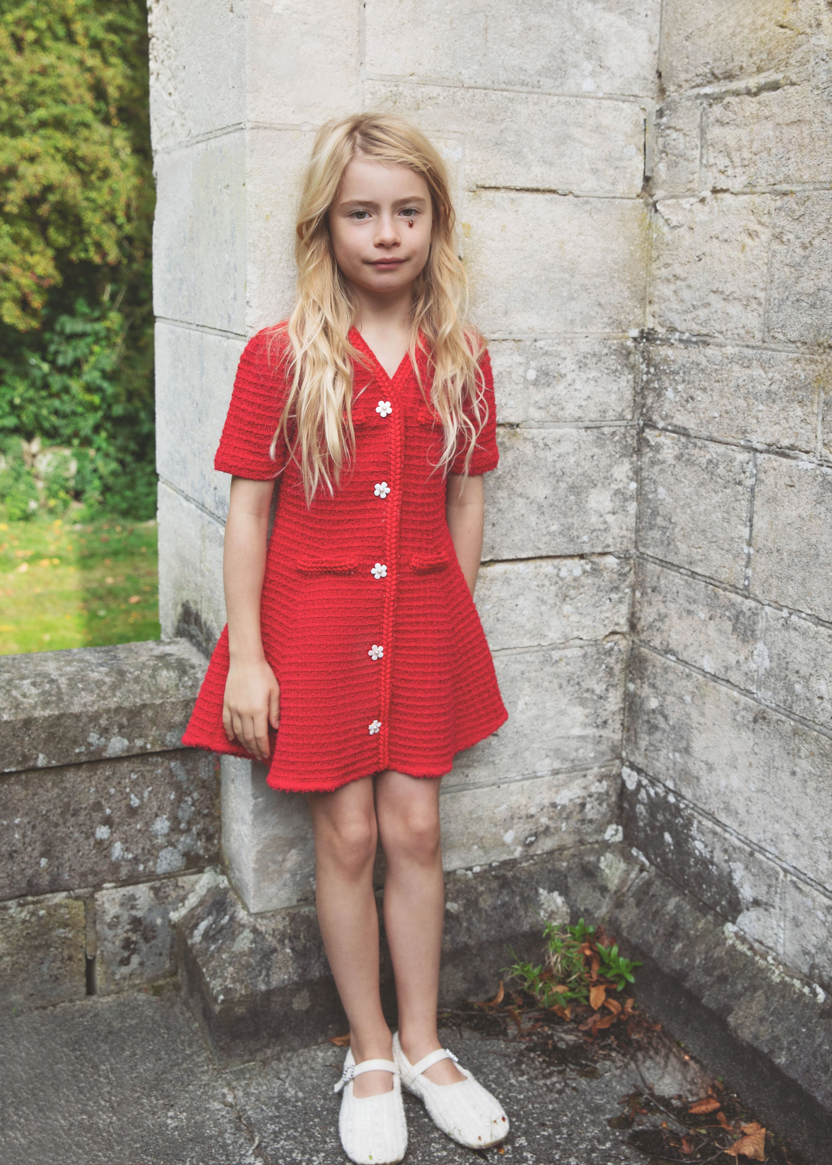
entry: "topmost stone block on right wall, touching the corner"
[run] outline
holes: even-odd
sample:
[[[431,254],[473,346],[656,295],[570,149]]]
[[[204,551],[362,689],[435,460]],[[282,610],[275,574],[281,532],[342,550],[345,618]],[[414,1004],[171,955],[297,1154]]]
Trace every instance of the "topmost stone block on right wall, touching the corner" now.
[[[792,0],[667,0],[662,82],[670,90],[783,70],[801,40]]]

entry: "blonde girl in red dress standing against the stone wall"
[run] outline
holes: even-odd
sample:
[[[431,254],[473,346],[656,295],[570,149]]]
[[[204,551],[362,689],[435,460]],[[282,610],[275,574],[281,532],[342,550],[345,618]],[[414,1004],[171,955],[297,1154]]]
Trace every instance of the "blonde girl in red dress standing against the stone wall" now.
[[[309,796],[317,908],[350,1021],[340,1136],[407,1149],[401,1083],[460,1144],[500,1103],[439,1045],[439,782],[507,713],[472,601],[482,474],[498,461],[488,354],[465,323],[445,169],[399,118],[318,133],[291,318],[246,347],[214,465],[232,474],[228,624],[184,743],[268,762]],[[272,537],[269,507],[281,476]],[[379,997],[373,861],[399,1031]]]

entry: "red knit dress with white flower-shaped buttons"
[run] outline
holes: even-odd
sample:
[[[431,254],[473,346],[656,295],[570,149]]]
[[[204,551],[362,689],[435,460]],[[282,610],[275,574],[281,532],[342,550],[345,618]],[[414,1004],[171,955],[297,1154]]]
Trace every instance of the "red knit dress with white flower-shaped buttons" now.
[[[269,457],[285,381],[268,339],[260,332],[242,353],[214,459],[240,478],[282,472],[260,607],[281,690],[268,783],[324,792],[383,769],[442,776],[454,753],[508,715],[445,520],[446,479],[433,468],[442,425],[409,358],[390,380],[353,329],[350,340],[366,359],[353,376],[355,456],[334,496],[318,493],[308,508],[285,447]],[[487,353],[481,367],[488,419],[472,474],[498,463]],[[419,372],[428,389],[423,365]],[[453,472],[464,460],[463,449]],[[249,756],[223,729],[227,675],[226,627],[183,743]]]

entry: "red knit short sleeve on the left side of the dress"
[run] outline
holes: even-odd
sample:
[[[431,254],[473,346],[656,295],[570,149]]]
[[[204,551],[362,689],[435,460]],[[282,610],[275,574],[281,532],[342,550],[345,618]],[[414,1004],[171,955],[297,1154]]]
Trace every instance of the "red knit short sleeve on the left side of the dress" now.
[[[278,437],[275,456],[269,456],[277,429],[285,379],[281,373],[281,343],[272,330],[258,332],[245,347],[234,377],[234,390],[225,418],[223,436],[213,459],[214,469],[238,478],[267,481],[285,465],[285,443]]]

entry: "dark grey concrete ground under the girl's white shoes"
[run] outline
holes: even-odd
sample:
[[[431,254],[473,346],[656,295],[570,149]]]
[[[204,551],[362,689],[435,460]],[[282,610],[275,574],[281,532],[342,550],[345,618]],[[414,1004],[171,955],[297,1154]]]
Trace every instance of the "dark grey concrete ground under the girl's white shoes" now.
[[[523,1165],[643,1163],[627,1132],[608,1124],[622,1111],[619,1099],[646,1082],[665,1095],[697,1095],[701,1085],[700,1071],[669,1042],[658,1040],[639,1062],[622,1053],[587,1067],[577,1055],[570,1067],[548,1065],[516,1038],[465,1030],[443,1038],[500,1096],[512,1132],[501,1153],[471,1152],[408,1096],[411,1165],[485,1156]],[[3,1017],[0,1163],[338,1165],[346,1157],[332,1085],[343,1058],[327,1043],[220,1069],[172,990]]]

